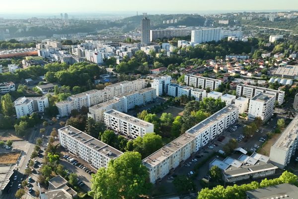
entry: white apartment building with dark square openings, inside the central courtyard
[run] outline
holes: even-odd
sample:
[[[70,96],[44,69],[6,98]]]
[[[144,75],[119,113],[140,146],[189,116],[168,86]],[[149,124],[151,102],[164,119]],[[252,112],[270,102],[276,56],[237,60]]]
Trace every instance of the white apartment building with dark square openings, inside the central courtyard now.
[[[104,112],[104,123],[115,132],[132,139],[154,132],[153,124],[114,109]]]

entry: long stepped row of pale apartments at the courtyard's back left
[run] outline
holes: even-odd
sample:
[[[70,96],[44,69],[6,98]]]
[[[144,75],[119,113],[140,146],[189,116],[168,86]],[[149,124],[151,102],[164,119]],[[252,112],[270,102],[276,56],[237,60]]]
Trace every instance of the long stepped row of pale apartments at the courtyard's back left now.
[[[57,102],[56,106],[59,114],[63,117],[70,115],[73,109],[79,110],[83,106],[90,107],[103,101],[112,100],[117,95],[139,91],[145,87],[145,80],[123,81],[109,85],[104,90],[91,90],[70,96],[67,100]]]

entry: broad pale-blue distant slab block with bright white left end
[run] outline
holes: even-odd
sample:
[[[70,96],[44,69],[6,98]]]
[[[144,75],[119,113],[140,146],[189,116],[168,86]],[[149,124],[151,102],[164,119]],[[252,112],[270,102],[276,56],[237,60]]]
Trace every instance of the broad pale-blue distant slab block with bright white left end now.
[[[204,43],[221,40],[221,28],[206,28],[191,31],[191,42]]]

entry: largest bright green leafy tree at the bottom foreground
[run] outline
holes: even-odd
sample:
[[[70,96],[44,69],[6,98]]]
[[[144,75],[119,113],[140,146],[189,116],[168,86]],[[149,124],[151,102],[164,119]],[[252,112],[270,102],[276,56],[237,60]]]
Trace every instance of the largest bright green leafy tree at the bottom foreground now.
[[[138,152],[125,152],[107,168],[100,168],[91,179],[93,199],[138,199],[151,187],[149,173]],[[113,186],[111,186],[113,185]]]

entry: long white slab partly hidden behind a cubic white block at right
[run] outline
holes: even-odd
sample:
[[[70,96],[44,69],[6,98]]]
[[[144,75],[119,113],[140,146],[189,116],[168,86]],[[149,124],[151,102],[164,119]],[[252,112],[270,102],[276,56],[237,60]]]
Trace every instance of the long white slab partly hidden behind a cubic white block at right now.
[[[236,95],[240,97],[246,97],[246,98],[253,98],[259,93],[265,93],[275,96],[275,100],[278,101],[279,104],[282,104],[284,102],[285,98],[285,92],[284,91],[277,91],[273,89],[267,89],[264,87],[256,87],[251,85],[244,85],[244,84],[238,84],[236,89]]]

